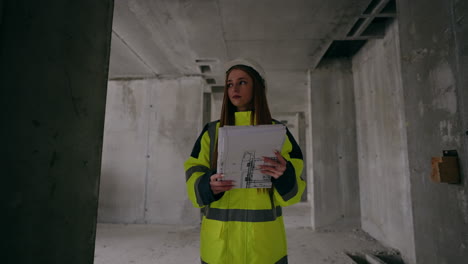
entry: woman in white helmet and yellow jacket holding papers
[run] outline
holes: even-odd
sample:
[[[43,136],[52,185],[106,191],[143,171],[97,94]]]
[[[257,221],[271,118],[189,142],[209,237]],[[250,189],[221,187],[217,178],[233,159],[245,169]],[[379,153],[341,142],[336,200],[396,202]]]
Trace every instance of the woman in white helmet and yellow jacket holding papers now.
[[[262,68],[248,59],[227,65],[221,119],[204,127],[184,164],[188,196],[202,208],[201,262],[287,263],[281,207],[299,202],[304,192],[302,153],[286,130],[277,160],[264,157],[261,166],[272,177],[272,188],[233,189],[231,181],[218,181],[223,177],[216,173],[219,127],[279,123],[270,115]]]

